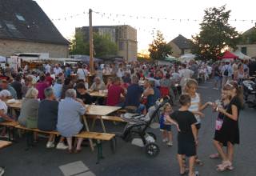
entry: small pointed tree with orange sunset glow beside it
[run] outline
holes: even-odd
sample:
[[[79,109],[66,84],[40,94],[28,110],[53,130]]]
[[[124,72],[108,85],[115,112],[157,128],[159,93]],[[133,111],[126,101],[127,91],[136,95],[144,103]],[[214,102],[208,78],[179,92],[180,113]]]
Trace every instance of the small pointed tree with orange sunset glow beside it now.
[[[172,54],[171,47],[166,44],[166,41],[159,30],[157,31],[157,37],[154,38],[154,41],[150,44],[149,51],[150,58],[153,60],[161,60],[166,58],[168,54]]]

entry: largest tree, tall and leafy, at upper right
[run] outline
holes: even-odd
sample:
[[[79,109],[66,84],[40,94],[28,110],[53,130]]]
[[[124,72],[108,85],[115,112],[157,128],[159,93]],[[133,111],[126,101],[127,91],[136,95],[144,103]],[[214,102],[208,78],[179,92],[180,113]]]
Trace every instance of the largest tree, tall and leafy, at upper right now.
[[[205,10],[200,33],[192,36],[192,52],[197,54],[199,59],[215,60],[222,50],[236,48],[240,34],[228,23],[230,12],[226,10],[226,6]]]

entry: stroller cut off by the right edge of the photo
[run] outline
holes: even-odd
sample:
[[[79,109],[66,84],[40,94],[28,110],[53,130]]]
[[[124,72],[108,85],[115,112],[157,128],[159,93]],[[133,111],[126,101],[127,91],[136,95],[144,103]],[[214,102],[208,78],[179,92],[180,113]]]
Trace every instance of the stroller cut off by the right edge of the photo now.
[[[248,103],[249,107],[256,108],[256,84],[253,81],[246,80],[242,82],[243,87],[243,95],[246,103]],[[254,100],[249,101],[248,98],[250,95],[254,95]]]

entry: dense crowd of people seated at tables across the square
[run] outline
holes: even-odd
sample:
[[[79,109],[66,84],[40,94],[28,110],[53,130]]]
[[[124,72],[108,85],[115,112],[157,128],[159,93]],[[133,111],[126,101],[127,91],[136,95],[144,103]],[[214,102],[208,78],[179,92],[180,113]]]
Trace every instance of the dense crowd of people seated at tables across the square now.
[[[223,72],[225,65],[221,66],[221,64],[213,65],[213,73],[216,70]],[[69,65],[62,69],[58,64],[50,66],[47,63],[46,70],[42,70],[41,73],[30,71],[29,68],[17,73],[7,66],[6,70],[0,72],[0,90],[8,90],[10,93],[8,97],[23,98],[20,112],[15,111],[22,126],[40,130],[58,130],[62,134],[58,148],[71,149],[72,137],[82,130],[79,117],[85,114],[84,104],[95,103],[124,108],[134,106],[137,113],[146,114],[146,110],[154,106],[158,98],[168,95],[172,102],[175,102],[179,88],[176,84],[184,87],[187,78],[198,78],[198,70],[206,70],[205,72],[210,70],[208,69],[210,66],[206,63],[197,62],[173,66],[138,62],[127,65],[113,63],[96,67],[94,82],[88,85],[86,76],[90,73],[88,66],[85,65],[79,65],[76,71]],[[244,67],[243,64],[238,66],[234,78],[242,78],[242,74],[247,73],[247,70],[242,70]],[[70,75],[75,73],[78,74],[78,78],[71,78]],[[111,74],[106,82],[102,79],[104,73]],[[90,96],[91,90],[104,90],[106,98]],[[0,122],[13,120],[13,117],[7,114],[7,106],[3,98],[0,92]],[[62,143],[64,138],[68,139],[69,147]],[[81,140],[78,140],[76,147],[78,151],[81,150]],[[50,136],[46,147],[54,147],[53,136]]]

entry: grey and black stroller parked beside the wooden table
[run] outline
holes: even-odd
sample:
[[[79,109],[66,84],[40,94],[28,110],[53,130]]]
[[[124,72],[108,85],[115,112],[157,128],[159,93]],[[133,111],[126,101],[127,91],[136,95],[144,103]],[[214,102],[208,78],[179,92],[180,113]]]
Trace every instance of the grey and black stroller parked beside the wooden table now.
[[[135,146],[145,147],[145,152],[149,157],[156,157],[160,152],[158,145],[155,143],[157,138],[154,133],[146,130],[155,117],[159,119],[159,111],[166,102],[170,102],[170,100],[157,101],[154,106],[150,107],[146,115],[124,114],[121,118],[125,119],[127,124],[122,134],[118,136]]]

